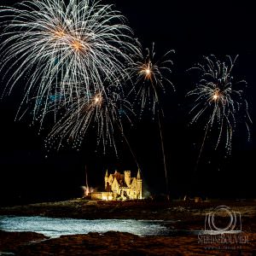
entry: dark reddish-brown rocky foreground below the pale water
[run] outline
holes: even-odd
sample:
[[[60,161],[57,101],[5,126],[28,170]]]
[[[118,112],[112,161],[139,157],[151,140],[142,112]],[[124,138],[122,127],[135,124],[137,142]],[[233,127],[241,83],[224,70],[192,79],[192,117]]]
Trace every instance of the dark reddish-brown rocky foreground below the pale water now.
[[[3,234],[2,234],[3,235]],[[2,251],[15,255],[253,255],[256,252],[256,236],[247,234],[250,243],[229,249],[206,249],[199,244],[197,236],[147,236],[139,237],[129,233],[107,232],[104,234],[89,233],[87,235],[61,236],[40,242],[31,239],[42,239],[38,234],[15,233],[2,237]],[[20,238],[23,237],[21,242]],[[17,243],[17,239],[19,243]],[[12,242],[11,242],[12,241]],[[27,242],[30,241],[30,242]],[[11,243],[14,245],[10,247]],[[8,246],[9,250],[6,250]]]

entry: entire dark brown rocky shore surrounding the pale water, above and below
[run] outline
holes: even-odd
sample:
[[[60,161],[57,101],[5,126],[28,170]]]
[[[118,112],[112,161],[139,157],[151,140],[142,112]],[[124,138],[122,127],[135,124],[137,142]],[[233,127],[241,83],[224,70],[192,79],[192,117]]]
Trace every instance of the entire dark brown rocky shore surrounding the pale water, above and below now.
[[[203,244],[200,243],[201,240],[197,235],[189,233],[189,230],[203,229],[206,213],[219,205],[227,205],[232,210],[241,212],[242,234],[248,237],[248,243]],[[15,253],[14,255],[256,255],[255,201],[200,203],[127,201],[119,203],[76,199],[1,207],[0,215],[81,219],[150,219],[160,220],[171,231],[181,231],[174,232],[170,236],[144,237],[108,231],[103,234],[94,232],[51,239],[32,232],[0,231],[0,252]],[[173,220],[179,221],[173,222]],[[188,230],[188,233],[184,234],[182,230]]]

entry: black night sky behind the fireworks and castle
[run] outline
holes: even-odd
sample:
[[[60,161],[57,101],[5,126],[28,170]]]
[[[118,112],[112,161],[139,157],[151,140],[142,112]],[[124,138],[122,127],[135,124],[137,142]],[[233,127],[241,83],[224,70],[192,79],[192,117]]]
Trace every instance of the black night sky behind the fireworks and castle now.
[[[1,1],[11,5],[19,1]],[[230,2],[230,1],[229,1]],[[185,95],[194,88],[196,77],[187,72],[189,67],[201,61],[202,55],[239,55],[234,77],[247,80],[249,113],[255,122],[256,96],[256,15],[253,3],[241,1],[179,1],[179,0],[104,0],[114,3],[127,18],[143,48],[155,43],[157,55],[175,49],[172,55],[172,83],[161,96],[165,112],[162,119],[166,151],[166,166],[172,199],[183,195],[199,195],[214,198],[253,198],[256,196],[254,173],[256,153],[255,128],[251,125],[251,141],[247,142],[245,126],[238,121],[230,156],[224,148],[212,150],[209,138],[204,148],[197,173],[195,162],[204,136],[201,125],[189,126],[189,110],[193,106]],[[33,201],[52,201],[79,196],[85,183],[86,166],[89,183],[93,187],[103,185],[106,169],[113,172],[131,170],[137,173],[137,165],[125,143],[119,143],[119,158],[114,154],[95,152],[93,140],[88,138],[78,152],[70,148],[61,152],[47,152],[44,133],[38,135],[38,127],[30,126],[26,117],[15,121],[20,103],[22,81],[13,93],[0,102],[0,201],[16,204]],[[1,86],[4,84],[2,82]],[[129,126],[129,125],[128,125]],[[151,116],[126,127],[126,137],[136,155],[143,173],[145,187],[152,194],[166,192],[165,172],[160,145],[158,123]],[[46,157],[47,156],[47,157]]]

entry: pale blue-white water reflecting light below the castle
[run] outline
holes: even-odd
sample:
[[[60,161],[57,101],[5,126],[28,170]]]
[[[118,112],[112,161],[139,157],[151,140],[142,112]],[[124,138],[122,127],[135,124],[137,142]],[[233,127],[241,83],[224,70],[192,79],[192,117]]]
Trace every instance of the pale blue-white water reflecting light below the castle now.
[[[135,219],[75,219],[46,218],[40,216],[0,216],[0,230],[31,231],[51,238],[61,235],[104,233],[107,231],[129,232],[137,236],[166,236],[169,230],[161,221]]]

